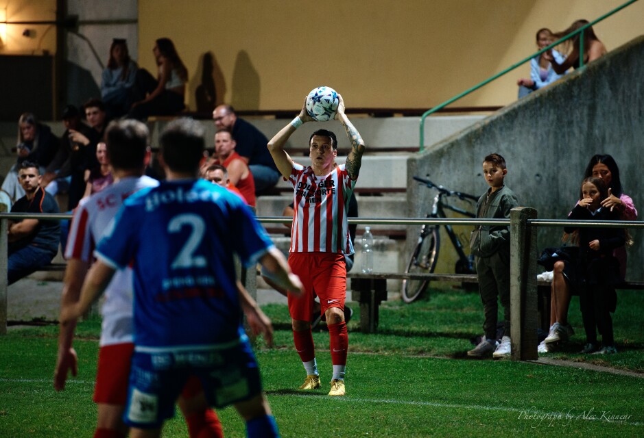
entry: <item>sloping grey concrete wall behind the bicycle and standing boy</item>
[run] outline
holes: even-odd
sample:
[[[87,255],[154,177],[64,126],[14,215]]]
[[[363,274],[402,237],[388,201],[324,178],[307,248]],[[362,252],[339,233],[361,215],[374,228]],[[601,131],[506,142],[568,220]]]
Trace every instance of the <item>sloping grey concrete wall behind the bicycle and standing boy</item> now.
[[[539,218],[566,218],[578,197],[588,160],[608,153],[620,166],[624,192],[644,209],[644,36],[505,107],[486,120],[409,159],[410,217],[424,216],[430,190],[412,175],[427,175],[453,190],[480,194],[488,186],[481,162],[492,152],[508,163],[507,185]],[[641,217],[642,213],[640,213]],[[561,229],[540,229],[539,246],[558,245]],[[644,278],[644,233],[631,230],[628,278]]]

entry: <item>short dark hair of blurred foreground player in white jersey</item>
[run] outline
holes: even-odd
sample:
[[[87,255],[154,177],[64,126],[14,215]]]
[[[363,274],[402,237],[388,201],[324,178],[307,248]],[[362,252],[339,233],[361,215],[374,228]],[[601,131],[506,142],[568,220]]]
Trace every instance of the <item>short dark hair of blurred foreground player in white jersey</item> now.
[[[150,131],[138,120],[111,122],[105,131],[110,164],[115,169],[140,169],[150,143]]]

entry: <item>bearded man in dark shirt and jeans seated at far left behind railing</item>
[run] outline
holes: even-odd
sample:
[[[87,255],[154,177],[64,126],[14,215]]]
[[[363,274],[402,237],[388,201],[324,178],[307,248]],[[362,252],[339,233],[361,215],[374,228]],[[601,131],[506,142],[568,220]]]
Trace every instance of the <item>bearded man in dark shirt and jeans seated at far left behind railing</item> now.
[[[25,196],[12,207],[14,213],[58,213],[58,204],[40,187],[38,164],[21,162],[18,172]],[[60,226],[58,220],[10,220],[8,227],[9,284],[47,265],[58,253]]]

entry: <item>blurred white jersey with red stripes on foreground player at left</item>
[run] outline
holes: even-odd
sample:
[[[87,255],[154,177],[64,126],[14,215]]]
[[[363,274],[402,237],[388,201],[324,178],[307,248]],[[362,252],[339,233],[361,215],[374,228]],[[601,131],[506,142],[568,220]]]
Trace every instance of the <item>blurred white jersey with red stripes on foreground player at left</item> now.
[[[89,198],[82,199],[71,220],[65,258],[91,263],[95,245],[108,229],[123,200],[143,188],[157,185],[158,181],[150,177],[127,177]],[[112,277],[101,308],[101,346],[132,342],[133,287],[130,268],[119,270]]]

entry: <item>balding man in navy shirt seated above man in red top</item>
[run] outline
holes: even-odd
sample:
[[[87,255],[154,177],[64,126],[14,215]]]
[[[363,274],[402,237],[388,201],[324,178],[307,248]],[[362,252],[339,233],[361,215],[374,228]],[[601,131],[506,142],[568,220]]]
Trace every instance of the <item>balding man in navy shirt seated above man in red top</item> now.
[[[230,105],[219,105],[213,112],[217,129],[228,129],[237,142],[237,153],[248,164],[255,181],[255,194],[276,185],[281,175],[268,151],[268,139],[256,127],[237,117]]]

